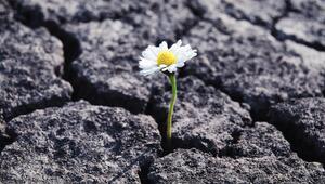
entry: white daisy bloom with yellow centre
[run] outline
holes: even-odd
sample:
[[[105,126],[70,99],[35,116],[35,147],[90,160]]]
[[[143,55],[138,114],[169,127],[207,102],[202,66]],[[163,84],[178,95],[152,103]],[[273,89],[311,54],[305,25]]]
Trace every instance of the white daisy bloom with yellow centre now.
[[[147,76],[159,70],[176,73],[177,68],[183,67],[186,61],[197,55],[197,51],[190,44],[181,44],[182,41],[179,40],[171,48],[168,48],[166,41],[162,41],[159,47],[147,47],[140,57],[139,67],[142,69],[140,74]]]

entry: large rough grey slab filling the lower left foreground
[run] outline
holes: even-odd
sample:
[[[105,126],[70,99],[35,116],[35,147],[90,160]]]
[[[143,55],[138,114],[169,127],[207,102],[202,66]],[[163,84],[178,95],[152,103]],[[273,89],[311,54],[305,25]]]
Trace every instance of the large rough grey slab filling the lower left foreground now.
[[[17,134],[0,156],[3,183],[140,183],[160,152],[153,118],[122,108],[69,103],[9,122]]]

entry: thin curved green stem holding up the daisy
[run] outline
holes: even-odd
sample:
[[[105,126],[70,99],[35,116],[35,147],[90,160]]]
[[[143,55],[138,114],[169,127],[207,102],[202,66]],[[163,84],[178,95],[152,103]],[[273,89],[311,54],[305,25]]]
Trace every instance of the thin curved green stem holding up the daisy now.
[[[173,107],[174,107],[176,100],[177,100],[178,89],[177,89],[176,74],[172,73],[172,74],[168,75],[168,77],[169,77],[169,81],[170,81],[171,88],[172,88],[172,96],[170,100],[170,106],[169,106],[168,119],[167,119],[167,143],[169,146],[171,146],[172,114],[173,114]]]

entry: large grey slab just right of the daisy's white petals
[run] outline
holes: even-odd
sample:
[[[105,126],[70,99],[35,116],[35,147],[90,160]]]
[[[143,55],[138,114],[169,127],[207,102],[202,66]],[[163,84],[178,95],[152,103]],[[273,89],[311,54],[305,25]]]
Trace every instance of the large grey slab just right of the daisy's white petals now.
[[[280,42],[246,21],[219,14],[218,19],[200,22],[184,40],[199,45],[185,74],[249,104],[255,118],[263,119],[276,102],[323,95],[325,53]]]

